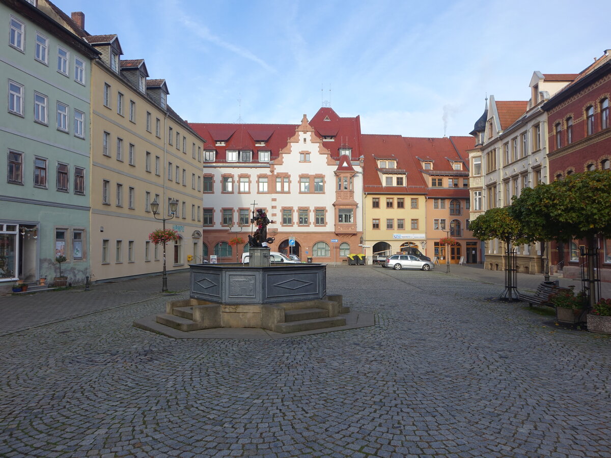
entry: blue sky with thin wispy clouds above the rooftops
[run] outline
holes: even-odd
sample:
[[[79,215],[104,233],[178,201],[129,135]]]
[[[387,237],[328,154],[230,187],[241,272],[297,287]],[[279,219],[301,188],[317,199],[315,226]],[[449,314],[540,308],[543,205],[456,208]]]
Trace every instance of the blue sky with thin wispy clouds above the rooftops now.
[[[602,0],[54,3],[117,34],[200,123],[299,124],[331,106],[364,134],[468,136],[486,95],[529,100],[533,71],[579,73],[611,49]]]

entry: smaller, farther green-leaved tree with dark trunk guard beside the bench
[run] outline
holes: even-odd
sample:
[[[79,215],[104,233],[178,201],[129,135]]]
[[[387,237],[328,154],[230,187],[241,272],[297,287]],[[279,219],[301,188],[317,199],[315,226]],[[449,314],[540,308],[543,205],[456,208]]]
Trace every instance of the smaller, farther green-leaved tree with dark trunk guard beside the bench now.
[[[518,299],[510,269],[511,245],[528,243],[533,240],[532,236],[524,230],[521,222],[511,215],[507,207],[485,211],[470,223],[469,229],[473,231],[473,236],[480,240],[499,239],[505,243],[505,292],[508,300]]]

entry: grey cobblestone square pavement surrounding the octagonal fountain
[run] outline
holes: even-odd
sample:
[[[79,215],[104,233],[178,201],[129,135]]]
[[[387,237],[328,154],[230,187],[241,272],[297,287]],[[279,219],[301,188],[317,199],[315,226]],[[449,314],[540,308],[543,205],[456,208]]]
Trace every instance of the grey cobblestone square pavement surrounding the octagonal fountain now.
[[[159,277],[1,297],[0,456],[611,456],[611,338],[466,276],[329,267],[375,326],[282,340],[132,327]]]

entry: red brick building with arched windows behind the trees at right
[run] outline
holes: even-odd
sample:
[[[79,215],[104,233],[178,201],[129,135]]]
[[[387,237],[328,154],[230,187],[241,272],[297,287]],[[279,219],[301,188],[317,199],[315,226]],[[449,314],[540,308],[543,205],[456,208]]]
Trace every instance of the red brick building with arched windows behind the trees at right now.
[[[611,49],[579,73],[543,110],[547,112],[550,181],[611,164]],[[611,282],[611,240],[599,239],[602,281]],[[579,247],[584,241],[552,243],[551,263],[565,277],[579,278]]]

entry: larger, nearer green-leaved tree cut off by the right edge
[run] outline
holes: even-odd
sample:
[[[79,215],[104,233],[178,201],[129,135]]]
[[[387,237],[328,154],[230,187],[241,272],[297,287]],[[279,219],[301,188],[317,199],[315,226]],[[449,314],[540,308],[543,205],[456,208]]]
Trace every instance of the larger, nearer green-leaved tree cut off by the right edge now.
[[[585,239],[588,246],[590,305],[596,303],[596,236],[611,236],[611,170],[574,173],[564,180],[525,188],[510,213],[525,231],[541,241]]]

